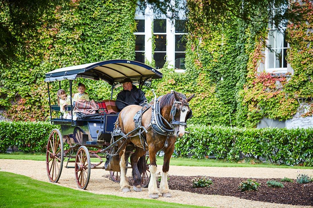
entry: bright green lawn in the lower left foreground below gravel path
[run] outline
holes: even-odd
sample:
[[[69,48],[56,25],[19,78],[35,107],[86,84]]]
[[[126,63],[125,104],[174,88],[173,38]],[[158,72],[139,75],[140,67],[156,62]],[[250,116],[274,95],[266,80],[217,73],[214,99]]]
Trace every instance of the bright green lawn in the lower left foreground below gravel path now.
[[[93,194],[8,172],[0,172],[0,181],[0,207],[200,207]]]

